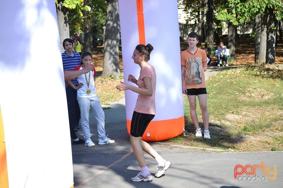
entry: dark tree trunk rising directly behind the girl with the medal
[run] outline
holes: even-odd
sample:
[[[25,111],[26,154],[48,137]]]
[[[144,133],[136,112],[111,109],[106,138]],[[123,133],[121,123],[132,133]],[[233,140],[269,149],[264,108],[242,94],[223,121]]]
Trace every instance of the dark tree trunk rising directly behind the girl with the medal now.
[[[84,4],[88,4],[87,1],[84,2]],[[83,51],[91,52],[92,42],[91,42],[91,26],[90,26],[90,15],[89,12],[86,10],[83,10],[83,24],[84,24],[84,35],[85,40],[83,43]]]

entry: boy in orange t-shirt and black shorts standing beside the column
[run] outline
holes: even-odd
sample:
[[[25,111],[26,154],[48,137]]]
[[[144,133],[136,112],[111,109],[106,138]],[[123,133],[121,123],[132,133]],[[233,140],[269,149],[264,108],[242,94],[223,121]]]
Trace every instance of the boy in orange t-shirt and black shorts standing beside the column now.
[[[196,96],[200,104],[200,110],[204,124],[204,139],[210,139],[208,130],[207,92],[205,86],[204,71],[207,69],[207,56],[203,49],[197,47],[198,34],[191,32],[188,35],[189,48],[181,53],[182,90],[188,96],[190,103],[190,115],[195,125],[195,136],[202,137],[196,112]]]

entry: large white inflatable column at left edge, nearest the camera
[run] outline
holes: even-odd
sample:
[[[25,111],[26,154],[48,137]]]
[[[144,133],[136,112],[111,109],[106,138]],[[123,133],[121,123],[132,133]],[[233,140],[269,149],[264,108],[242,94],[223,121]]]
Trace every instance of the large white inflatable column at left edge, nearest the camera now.
[[[0,187],[73,187],[55,1],[0,5]]]

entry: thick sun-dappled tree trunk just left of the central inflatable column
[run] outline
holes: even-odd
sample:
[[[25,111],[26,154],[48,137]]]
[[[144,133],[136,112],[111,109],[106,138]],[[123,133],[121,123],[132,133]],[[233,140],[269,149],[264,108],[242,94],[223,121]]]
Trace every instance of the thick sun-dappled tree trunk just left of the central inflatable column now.
[[[105,25],[104,59],[102,77],[113,75],[119,78],[119,42],[120,20],[118,0],[108,0],[107,17]]]

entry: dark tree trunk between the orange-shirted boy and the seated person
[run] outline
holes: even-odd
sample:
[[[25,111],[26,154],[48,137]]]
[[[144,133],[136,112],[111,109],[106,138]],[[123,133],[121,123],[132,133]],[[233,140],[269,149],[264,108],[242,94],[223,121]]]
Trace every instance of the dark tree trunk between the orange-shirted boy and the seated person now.
[[[213,40],[213,0],[207,0],[207,12],[206,12],[206,24],[208,31],[208,51],[214,51],[214,40]]]

